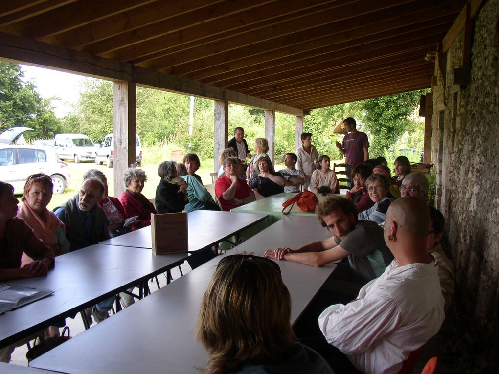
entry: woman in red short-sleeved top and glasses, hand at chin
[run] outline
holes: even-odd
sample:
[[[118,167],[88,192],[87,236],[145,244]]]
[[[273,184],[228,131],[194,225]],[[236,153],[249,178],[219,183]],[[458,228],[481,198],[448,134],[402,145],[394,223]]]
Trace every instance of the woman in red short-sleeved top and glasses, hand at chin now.
[[[246,181],[238,177],[239,159],[229,157],[224,160],[224,175],[215,182],[215,194],[222,210],[229,211],[254,200],[254,193]],[[248,168],[250,169],[250,168]]]

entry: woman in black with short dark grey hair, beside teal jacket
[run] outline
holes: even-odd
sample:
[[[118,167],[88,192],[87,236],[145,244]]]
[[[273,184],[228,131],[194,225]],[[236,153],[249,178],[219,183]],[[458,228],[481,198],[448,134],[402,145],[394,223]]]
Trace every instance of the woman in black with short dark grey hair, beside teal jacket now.
[[[156,187],[156,209],[158,213],[179,213],[184,210],[187,199],[187,183],[177,174],[175,161],[163,161],[158,166],[161,178]]]

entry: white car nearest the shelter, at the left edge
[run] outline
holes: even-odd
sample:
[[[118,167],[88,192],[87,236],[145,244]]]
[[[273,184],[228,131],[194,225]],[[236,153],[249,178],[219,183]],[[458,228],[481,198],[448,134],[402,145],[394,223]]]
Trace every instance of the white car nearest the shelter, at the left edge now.
[[[52,178],[54,193],[62,193],[69,186],[69,168],[59,160],[53,148],[0,144],[1,180],[11,184],[14,193],[22,193],[26,179],[36,173]]]

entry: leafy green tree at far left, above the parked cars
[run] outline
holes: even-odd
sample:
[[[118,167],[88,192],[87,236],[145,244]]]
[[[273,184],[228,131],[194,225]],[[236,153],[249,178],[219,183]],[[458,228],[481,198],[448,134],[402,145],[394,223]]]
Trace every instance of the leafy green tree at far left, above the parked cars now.
[[[14,126],[27,126],[35,131],[25,137],[52,137],[60,128],[50,100],[43,100],[32,82],[23,81],[18,64],[0,61],[0,132]]]

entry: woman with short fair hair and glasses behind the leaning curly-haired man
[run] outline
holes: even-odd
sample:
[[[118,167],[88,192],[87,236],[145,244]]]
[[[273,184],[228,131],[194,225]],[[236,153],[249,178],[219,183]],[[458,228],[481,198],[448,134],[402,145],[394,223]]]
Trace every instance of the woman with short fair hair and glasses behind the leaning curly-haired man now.
[[[381,225],[385,222],[388,207],[394,200],[387,197],[390,190],[390,179],[382,173],[373,173],[366,181],[367,192],[374,205],[357,214],[358,220],[368,220]]]

